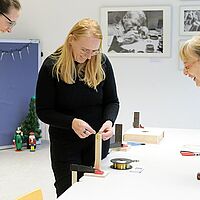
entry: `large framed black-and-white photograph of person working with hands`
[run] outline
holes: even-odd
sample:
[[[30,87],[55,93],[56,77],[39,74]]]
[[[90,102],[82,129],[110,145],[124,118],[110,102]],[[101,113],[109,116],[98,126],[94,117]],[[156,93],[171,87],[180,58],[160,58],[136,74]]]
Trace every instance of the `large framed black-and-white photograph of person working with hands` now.
[[[171,7],[101,8],[103,51],[110,56],[170,57]]]

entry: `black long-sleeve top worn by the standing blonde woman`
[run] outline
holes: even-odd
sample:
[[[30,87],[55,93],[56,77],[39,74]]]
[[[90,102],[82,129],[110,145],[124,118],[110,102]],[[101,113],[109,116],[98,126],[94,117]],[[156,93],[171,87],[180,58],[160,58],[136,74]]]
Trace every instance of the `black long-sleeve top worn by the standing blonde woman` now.
[[[55,61],[47,57],[40,69],[36,87],[36,111],[41,121],[50,125],[51,138],[79,139],[72,121],[79,118],[98,131],[106,120],[115,122],[119,110],[115,78],[110,61],[102,55],[106,78],[97,90],[78,78],[67,84],[52,76]]]

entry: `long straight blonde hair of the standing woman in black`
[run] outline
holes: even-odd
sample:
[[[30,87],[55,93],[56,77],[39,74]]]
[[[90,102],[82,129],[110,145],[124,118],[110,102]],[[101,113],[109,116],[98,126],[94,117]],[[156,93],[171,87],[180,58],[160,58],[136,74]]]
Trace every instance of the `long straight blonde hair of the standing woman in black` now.
[[[69,43],[72,36],[76,39],[80,37],[98,38],[101,40],[100,50],[102,48],[102,32],[99,24],[89,18],[82,19],[72,27],[64,44],[52,54],[51,57],[56,60],[53,75],[56,75],[58,80],[61,79],[67,84],[75,83],[78,76],[89,87],[96,89],[97,85],[105,79],[101,54],[92,56],[86,63],[79,64],[78,69],[76,69]]]

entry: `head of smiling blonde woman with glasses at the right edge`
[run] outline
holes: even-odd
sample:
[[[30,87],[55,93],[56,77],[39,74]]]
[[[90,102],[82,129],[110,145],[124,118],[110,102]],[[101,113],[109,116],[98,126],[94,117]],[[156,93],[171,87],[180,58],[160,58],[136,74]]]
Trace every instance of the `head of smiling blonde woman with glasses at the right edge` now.
[[[180,57],[184,62],[184,74],[200,87],[200,35],[194,36],[182,45]]]

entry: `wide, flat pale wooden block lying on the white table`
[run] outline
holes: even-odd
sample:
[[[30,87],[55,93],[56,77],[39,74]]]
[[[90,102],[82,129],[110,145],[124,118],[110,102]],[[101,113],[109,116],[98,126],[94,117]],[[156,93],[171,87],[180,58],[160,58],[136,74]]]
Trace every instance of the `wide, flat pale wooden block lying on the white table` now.
[[[158,144],[164,137],[164,130],[158,128],[131,128],[123,135],[123,141]]]

